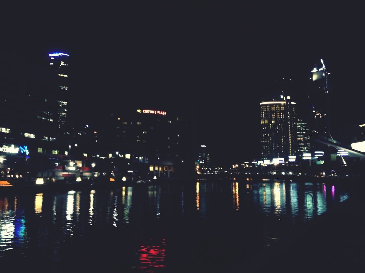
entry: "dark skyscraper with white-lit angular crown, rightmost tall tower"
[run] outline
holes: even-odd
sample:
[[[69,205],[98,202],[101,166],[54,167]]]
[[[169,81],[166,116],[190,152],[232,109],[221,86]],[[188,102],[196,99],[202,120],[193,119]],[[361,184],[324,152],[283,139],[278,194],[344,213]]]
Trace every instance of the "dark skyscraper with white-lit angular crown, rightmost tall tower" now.
[[[331,91],[330,75],[321,59],[321,67],[315,65],[311,71],[310,88],[308,90],[308,106],[310,114],[310,130],[315,135],[328,137],[329,122],[329,92]]]

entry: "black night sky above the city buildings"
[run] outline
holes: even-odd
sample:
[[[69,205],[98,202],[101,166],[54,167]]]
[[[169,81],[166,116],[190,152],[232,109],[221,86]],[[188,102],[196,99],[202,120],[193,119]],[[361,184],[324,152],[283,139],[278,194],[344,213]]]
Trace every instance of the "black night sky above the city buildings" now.
[[[195,111],[197,142],[218,163],[257,158],[270,83],[291,78],[304,92],[320,58],[334,78],[334,138],[349,142],[355,124],[365,123],[356,7],[152,2],[3,9],[2,43],[40,62],[69,52],[79,118],[139,103]]]

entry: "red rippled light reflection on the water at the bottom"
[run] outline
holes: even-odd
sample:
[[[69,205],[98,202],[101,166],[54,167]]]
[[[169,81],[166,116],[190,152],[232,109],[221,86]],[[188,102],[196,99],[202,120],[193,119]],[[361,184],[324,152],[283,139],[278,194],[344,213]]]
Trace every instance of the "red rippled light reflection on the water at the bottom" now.
[[[165,267],[165,252],[166,246],[165,239],[162,239],[161,244],[154,244],[153,240],[148,242],[149,245],[142,245],[141,249],[138,250],[139,252],[139,261],[141,266],[138,266],[139,269],[148,269],[146,272],[154,272],[153,268],[158,267]]]

